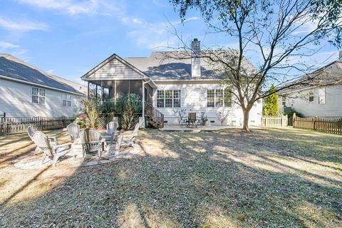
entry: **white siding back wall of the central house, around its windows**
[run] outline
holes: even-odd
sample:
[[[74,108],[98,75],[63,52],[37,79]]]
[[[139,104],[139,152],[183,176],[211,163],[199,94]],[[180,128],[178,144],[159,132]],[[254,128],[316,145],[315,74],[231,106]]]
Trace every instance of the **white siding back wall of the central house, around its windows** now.
[[[217,108],[207,108],[207,90],[223,88],[219,83],[174,83],[160,84],[157,83],[157,89],[153,90],[153,106],[157,108],[157,93],[156,90],[181,90],[181,108],[186,108],[186,112],[196,112],[197,118],[201,112],[204,112],[208,118],[209,125],[221,125],[217,118]],[[261,103],[257,103],[252,108],[249,114],[250,125],[260,125],[261,121]],[[157,108],[164,114],[167,124],[177,124],[177,119],[172,113],[173,108]],[[231,108],[227,108],[229,113],[224,125],[242,125],[243,113],[239,105],[233,103]],[[214,121],[214,123],[210,123]]]

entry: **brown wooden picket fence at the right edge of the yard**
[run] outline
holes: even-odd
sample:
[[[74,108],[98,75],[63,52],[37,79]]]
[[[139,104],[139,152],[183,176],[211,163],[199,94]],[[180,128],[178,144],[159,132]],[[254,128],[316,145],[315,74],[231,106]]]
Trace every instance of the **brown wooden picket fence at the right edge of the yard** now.
[[[304,128],[342,135],[342,118],[300,118],[294,113],[293,126],[294,128]]]

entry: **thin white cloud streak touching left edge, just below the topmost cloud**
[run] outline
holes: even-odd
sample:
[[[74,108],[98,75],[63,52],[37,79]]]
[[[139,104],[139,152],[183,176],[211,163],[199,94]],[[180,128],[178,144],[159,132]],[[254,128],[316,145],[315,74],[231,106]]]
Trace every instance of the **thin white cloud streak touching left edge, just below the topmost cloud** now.
[[[0,26],[6,28],[7,30],[16,31],[32,31],[41,30],[46,31],[48,26],[38,21],[29,21],[27,19],[21,21],[14,21],[11,19],[5,19],[0,17]]]

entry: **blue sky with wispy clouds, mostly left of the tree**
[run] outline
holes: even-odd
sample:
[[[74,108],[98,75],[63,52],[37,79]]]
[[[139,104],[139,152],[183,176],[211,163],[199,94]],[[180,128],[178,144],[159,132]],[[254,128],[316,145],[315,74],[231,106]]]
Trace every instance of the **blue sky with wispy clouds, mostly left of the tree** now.
[[[80,82],[113,53],[149,56],[157,47],[177,46],[167,20],[184,39],[199,38],[205,46],[237,45],[222,34],[205,35],[207,27],[195,11],[180,24],[167,0],[1,0],[0,53]],[[323,51],[326,56],[336,52]]]

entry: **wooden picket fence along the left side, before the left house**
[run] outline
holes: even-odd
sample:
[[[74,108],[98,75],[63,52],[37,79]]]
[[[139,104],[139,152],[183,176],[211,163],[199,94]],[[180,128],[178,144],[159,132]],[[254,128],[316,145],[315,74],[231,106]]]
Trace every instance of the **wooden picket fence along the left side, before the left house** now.
[[[11,135],[25,133],[27,127],[31,125],[36,130],[54,130],[66,128],[69,123],[73,123],[73,117],[7,117],[0,115],[0,135]]]

